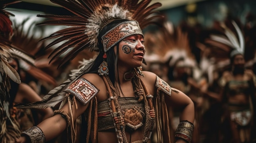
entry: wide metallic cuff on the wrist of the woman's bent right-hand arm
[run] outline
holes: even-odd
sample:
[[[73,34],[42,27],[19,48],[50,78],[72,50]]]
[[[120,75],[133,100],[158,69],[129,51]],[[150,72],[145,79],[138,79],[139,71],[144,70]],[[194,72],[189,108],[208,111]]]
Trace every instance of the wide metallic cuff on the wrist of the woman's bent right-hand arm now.
[[[191,143],[194,125],[189,121],[181,121],[175,132],[175,139],[181,138]]]

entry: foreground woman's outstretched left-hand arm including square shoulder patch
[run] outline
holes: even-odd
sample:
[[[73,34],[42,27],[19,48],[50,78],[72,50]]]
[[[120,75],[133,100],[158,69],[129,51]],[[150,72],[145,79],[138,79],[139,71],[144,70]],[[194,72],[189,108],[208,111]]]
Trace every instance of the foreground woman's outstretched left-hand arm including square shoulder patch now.
[[[72,111],[74,120],[79,117],[83,112],[85,112],[90,100],[94,100],[94,96],[98,96],[99,89],[101,88],[98,89],[94,85],[97,85],[97,87],[101,87],[103,83],[102,79],[101,81],[98,80],[99,76],[96,76],[96,74],[85,74],[82,77],[83,78],[74,81],[67,89],[65,89],[65,92],[69,92],[72,95],[74,94],[73,98],[76,97],[77,108]],[[90,91],[84,89],[88,89]],[[106,95],[106,90],[105,92],[101,91],[100,93]],[[35,138],[33,143],[37,142],[36,135],[45,136],[43,137],[45,138],[45,141],[54,139],[65,130],[65,128],[67,127],[67,122],[71,121],[69,119],[70,117],[68,116],[71,114],[69,110],[69,103],[66,103],[58,112],[60,112],[61,114],[56,114],[53,117],[50,117],[38,124],[36,127],[34,127],[34,130],[28,129],[23,133],[27,135],[29,134],[30,137],[32,136],[33,138]],[[26,139],[26,137],[24,136],[20,137],[17,140],[17,143],[28,142],[29,139]]]

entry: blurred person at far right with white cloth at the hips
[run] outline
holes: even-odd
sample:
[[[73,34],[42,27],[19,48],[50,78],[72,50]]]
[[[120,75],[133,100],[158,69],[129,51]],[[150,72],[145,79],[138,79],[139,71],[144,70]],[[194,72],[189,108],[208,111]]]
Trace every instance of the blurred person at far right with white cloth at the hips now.
[[[249,143],[254,136],[256,77],[252,70],[245,69],[242,53],[231,52],[231,71],[225,71],[220,79],[222,101],[227,103],[227,116],[231,142]]]

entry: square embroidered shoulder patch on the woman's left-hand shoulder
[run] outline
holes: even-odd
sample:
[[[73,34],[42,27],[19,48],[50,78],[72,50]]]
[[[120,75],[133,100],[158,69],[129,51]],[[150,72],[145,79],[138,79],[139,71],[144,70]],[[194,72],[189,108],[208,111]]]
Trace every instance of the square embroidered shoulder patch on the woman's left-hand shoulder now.
[[[79,78],[64,91],[74,95],[86,105],[95,95],[97,95],[99,89],[90,83],[90,81],[84,78]]]

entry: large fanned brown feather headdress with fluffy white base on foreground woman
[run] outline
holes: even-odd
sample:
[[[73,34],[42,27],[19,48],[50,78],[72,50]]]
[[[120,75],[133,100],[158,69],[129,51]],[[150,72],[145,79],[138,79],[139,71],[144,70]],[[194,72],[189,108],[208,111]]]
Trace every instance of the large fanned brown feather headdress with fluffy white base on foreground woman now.
[[[67,49],[71,49],[61,62],[73,59],[77,53],[87,48],[91,51],[98,51],[99,31],[115,19],[136,20],[143,29],[148,24],[157,23],[160,15],[150,16],[154,9],[161,6],[154,3],[150,6],[151,0],[51,0],[61,5],[74,15],[38,15],[38,17],[49,18],[49,20],[38,25],[65,25],[69,28],[57,31],[46,37],[47,39],[57,38],[47,47],[65,41],[58,46],[50,56],[52,59],[62,55]],[[52,60],[51,60],[52,61]],[[51,62],[50,61],[50,62]],[[60,65],[60,66],[61,66]]]

